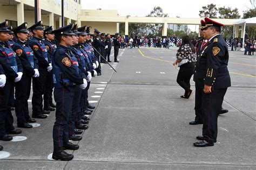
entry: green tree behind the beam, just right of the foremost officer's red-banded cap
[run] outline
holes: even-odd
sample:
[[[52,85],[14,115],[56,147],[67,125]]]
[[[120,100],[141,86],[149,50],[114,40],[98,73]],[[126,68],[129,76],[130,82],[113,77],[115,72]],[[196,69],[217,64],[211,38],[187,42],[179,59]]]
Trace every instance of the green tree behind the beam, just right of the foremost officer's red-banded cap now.
[[[231,7],[220,7],[218,9],[219,11],[219,18],[221,19],[238,19],[241,16],[239,15],[238,9],[231,9]],[[225,38],[233,38],[233,26],[224,26],[221,29],[221,36],[225,37]],[[235,37],[234,37],[235,38]]]

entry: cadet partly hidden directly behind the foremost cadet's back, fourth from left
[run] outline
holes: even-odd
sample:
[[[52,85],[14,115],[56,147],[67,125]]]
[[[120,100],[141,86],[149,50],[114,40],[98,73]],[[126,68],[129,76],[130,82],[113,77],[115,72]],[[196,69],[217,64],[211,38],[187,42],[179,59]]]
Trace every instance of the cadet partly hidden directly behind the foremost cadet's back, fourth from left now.
[[[44,30],[44,44],[48,53],[48,61],[51,64],[51,59],[53,53],[57,48],[56,44],[53,43],[55,35],[52,33],[52,26]],[[45,78],[45,87],[44,87],[44,110],[46,111],[55,111],[56,105],[52,103],[52,91],[53,91],[53,82],[52,82],[52,70],[46,73]]]

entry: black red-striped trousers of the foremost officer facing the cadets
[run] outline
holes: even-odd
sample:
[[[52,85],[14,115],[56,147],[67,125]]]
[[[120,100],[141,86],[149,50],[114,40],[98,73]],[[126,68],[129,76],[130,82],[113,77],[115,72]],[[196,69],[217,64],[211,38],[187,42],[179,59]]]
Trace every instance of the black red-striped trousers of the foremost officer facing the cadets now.
[[[210,94],[203,93],[203,139],[208,143],[214,143],[214,141],[217,140],[218,116],[226,91],[227,88],[213,89]]]

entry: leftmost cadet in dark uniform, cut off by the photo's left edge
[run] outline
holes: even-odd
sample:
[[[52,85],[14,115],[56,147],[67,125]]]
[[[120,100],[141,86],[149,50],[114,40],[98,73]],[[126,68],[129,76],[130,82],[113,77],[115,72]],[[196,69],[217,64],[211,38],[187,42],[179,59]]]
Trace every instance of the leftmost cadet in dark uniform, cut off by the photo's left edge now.
[[[0,140],[12,139],[7,134],[19,134],[22,131],[13,126],[14,118],[11,114],[11,97],[14,96],[14,83],[22,78],[21,61],[7,44],[10,30],[7,29],[8,22],[0,24],[0,63],[6,76],[5,86],[0,88]],[[1,77],[1,79],[4,77]],[[7,133],[7,134],[6,134]]]

